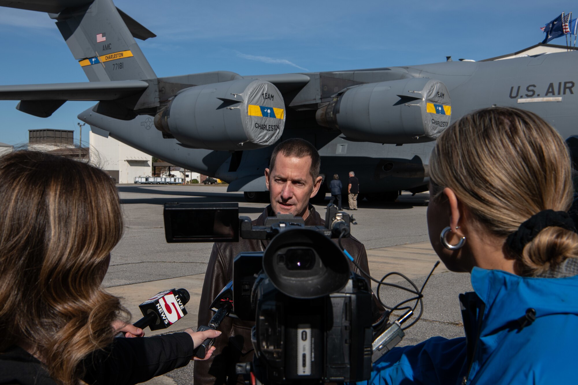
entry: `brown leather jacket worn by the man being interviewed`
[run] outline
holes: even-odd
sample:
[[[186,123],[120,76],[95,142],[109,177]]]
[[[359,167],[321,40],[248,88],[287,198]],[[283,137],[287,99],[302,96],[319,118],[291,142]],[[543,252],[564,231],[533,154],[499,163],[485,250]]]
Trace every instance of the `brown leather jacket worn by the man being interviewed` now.
[[[272,216],[275,216],[275,213],[269,205],[263,210],[261,216],[253,221],[253,225],[265,225],[266,217]],[[321,216],[312,205],[309,205],[309,216],[305,220],[305,225],[325,225],[325,221],[321,220]],[[336,239],[334,241],[337,242]],[[364,245],[353,236],[343,238],[342,243],[355,258],[355,262],[369,273]],[[241,251],[264,251],[267,245],[268,241],[257,239],[239,239],[237,243],[213,245],[199,304],[199,325],[207,325],[213,316],[209,307],[221,289],[232,279],[232,261],[235,256]],[[359,274],[359,270],[351,262],[350,268],[351,271]],[[223,334],[215,339],[213,346],[216,350],[213,357],[206,361],[195,362],[194,383],[202,385],[243,384],[242,378],[235,374],[235,364],[253,360],[251,328],[254,324],[254,322],[226,317],[218,327]]]

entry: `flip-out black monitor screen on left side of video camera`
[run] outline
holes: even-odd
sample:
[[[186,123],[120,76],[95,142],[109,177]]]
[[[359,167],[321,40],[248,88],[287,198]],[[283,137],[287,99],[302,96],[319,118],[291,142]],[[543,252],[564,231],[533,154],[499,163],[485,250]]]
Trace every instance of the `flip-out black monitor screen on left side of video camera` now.
[[[166,242],[239,242],[238,203],[165,203]]]

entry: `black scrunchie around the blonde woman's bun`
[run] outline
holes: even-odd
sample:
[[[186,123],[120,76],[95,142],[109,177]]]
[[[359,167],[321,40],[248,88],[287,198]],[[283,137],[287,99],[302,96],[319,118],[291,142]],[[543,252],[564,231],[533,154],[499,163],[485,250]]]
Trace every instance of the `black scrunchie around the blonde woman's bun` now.
[[[544,228],[551,226],[576,231],[574,221],[565,211],[543,210],[533,214],[518,227],[517,231],[508,235],[506,245],[521,255],[522,251],[524,251],[524,246],[528,245]]]

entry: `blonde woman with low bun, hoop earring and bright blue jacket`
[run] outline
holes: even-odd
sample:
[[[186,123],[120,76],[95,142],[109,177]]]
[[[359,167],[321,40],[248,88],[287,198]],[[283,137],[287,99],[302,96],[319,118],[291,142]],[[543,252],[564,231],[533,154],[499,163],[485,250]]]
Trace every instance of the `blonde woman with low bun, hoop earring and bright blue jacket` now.
[[[561,136],[531,112],[470,113],[429,160],[428,231],[460,295],[465,337],[397,347],[358,384],[576,383],[578,234]]]

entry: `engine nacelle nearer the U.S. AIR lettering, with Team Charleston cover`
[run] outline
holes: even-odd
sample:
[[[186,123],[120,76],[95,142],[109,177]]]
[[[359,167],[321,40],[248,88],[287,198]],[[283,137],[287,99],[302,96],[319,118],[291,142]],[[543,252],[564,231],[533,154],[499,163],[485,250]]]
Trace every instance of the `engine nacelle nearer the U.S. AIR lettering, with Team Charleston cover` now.
[[[354,140],[419,143],[450,124],[450,93],[439,80],[411,78],[347,88],[317,110],[317,123]]]

